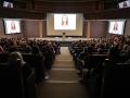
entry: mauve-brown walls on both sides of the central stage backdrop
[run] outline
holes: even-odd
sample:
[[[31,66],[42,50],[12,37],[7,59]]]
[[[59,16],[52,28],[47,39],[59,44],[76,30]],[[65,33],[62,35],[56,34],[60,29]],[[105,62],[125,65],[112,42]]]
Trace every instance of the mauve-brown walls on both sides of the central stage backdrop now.
[[[40,20],[24,20],[23,21],[23,33],[15,35],[4,35],[3,22],[0,20],[0,37],[47,37],[47,21]],[[40,27],[42,26],[42,27]],[[90,37],[99,38],[105,37],[106,35],[106,22],[105,21],[90,21]],[[88,33],[88,21],[83,22],[82,34],[87,38]]]

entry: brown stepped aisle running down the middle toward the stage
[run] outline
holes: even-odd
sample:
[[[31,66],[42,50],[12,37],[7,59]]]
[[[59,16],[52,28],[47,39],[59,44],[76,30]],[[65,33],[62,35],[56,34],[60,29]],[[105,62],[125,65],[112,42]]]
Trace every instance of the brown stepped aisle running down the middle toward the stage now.
[[[87,89],[78,83],[78,75],[68,47],[61,48],[50,78],[37,86],[37,98],[88,98]]]

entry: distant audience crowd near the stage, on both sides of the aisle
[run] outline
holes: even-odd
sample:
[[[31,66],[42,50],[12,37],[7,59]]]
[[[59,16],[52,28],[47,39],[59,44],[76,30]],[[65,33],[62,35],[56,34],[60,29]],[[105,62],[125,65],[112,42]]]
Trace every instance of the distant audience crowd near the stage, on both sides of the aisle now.
[[[130,57],[130,37],[112,36],[110,38],[93,38],[89,40],[72,41],[70,48],[82,49],[82,52],[77,53],[75,57],[83,60],[89,54],[108,54],[108,59],[116,63],[119,57]],[[51,69],[55,54],[60,54],[60,44],[57,41],[48,41],[42,39],[29,38],[1,38],[0,52],[6,51],[31,53],[44,57],[46,69]],[[74,51],[70,51],[72,53]],[[74,59],[74,60],[77,60]],[[128,59],[126,59],[128,61]],[[81,66],[82,68],[82,66]],[[79,69],[80,70],[80,69]]]

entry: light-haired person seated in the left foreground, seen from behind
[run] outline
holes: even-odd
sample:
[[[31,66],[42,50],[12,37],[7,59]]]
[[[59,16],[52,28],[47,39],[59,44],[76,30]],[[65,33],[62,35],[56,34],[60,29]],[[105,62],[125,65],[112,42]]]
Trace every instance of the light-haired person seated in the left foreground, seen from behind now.
[[[20,66],[16,66],[17,64],[16,61],[20,60]],[[25,90],[25,96],[29,96],[28,95],[28,89],[30,87],[29,84],[31,84],[31,87],[35,88],[35,73],[31,74],[32,72],[32,68],[29,66],[29,64],[27,64],[24,60],[23,57],[20,52],[12,52],[9,57],[9,61],[11,64],[11,70],[12,70],[12,85],[13,87],[15,87],[14,85],[18,85],[21,84],[21,87],[18,87],[17,93],[21,91],[21,88],[24,86],[24,90]],[[30,74],[32,77],[30,77]],[[31,79],[34,78],[34,81]],[[30,82],[31,79],[31,82]],[[32,84],[34,83],[34,84]],[[23,88],[22,88],[23,89]]]

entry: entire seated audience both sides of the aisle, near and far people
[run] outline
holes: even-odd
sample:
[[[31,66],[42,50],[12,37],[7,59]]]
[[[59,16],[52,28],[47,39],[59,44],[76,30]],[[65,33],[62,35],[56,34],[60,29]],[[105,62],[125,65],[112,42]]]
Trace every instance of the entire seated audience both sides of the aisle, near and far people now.
[[[84,58],[91,54],[106,54],[112,64],[120,62],[122,60],[120,58],[125,58],[123,62],[130,63],[130,36],[112,36],[110,38],[92,38],[88,40],[72,41],[69,49],[73,54],[74,62],[77,62],[78,60],[83,62]],[[76,53],[76,49],[80,49],[81,51]],[[44,78],[48,78],[47,71],[52,68],[55,56],[61,53],[61,46],[57,41],[48,41],[42,39],[29,39],[22,37],[11,39],[1,38],[0,53],[4,51],[10,56],[6,62],[12,65],[12,69],[15,69],[13,65],[17,62],[17,60],[20,60],[18,68],[22,69],[24,77],[28,76],[32,70],[32,66],[30,63],[28,64],[28,62],[24,61],[25,59],[23,59],[24,56],[22,57],[22,54],[27,53],[30,56],[42,57],[43,68],[42,65],[36,65],[36,63],[34,63],[35,61],[31,61],[35,64],[36,76],[40,74],[39,76],[42,79],[41,74],[43,74]],[[75,53],[77,56],[75,56]],[[96,62],[94,63],[96,64]],[[82,71],[86,66],[83,66],[83,64],[79,64],[79,62],[75,64],[78,64],[78,74],[82,75]],[[100,75],[95,75],[95,73],[93,75],[93,71],[94,70],[92,69],[92,76],[99,78],[98,76],[100,76],[101,73]],[[24,79],[24,82],[25,81],[26,79]]]

